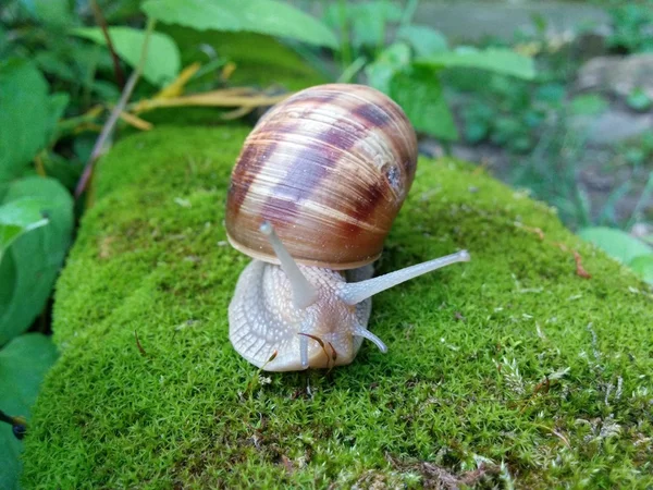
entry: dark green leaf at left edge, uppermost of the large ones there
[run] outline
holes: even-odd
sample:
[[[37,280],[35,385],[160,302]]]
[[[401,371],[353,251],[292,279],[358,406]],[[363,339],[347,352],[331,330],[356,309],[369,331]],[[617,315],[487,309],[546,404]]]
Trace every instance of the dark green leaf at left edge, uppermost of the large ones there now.
[[[0,183],[19,176],[46,145],[48,84],[23,60],[0,61]]]

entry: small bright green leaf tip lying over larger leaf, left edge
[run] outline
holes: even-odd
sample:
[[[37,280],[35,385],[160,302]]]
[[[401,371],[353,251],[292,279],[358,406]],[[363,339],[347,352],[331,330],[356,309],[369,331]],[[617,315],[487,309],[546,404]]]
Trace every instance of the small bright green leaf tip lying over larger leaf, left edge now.
[[[26,197],[0,206],[0,262],[9,246],[28,231],[48,224],[41,199]]]

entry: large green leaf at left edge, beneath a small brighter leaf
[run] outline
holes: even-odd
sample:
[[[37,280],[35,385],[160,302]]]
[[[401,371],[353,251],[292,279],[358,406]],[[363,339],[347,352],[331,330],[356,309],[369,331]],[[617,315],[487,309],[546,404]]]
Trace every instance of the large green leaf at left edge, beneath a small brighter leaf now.
[[[73,200],[56,180],[38,176],[11,183],[3,205],[39,200],[48,224],[13,242],[0,261],[0,345],[27,330],[40,314],[63,262],[73,229]]]

